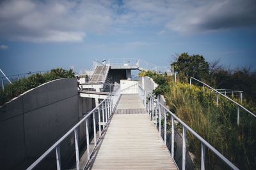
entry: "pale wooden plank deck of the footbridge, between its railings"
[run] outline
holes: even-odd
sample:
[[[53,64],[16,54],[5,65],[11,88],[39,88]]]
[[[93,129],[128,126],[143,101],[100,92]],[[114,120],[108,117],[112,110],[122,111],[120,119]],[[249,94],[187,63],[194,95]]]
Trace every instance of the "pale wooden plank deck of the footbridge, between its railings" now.
[[[87,169],[177,169],[138,95],[121,97],[102,137]]]

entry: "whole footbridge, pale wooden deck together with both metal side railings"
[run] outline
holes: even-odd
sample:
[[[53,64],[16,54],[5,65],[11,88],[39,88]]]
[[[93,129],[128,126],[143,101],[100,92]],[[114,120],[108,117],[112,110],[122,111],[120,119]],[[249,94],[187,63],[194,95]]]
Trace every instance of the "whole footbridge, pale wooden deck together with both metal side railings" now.
[[[122,84],[121,84],[122,85]],[[62,143],[74,136],[71,169],[178,169],[175,158],[175,131],[182,129],[182,169],[186,169],[186,134],[201,145],[201,169],[205,169],[205,149],[210,150],[232,169],[238,169],[204,138],[174,115],[163,103],[140,85],[118,86],[99,105],[65,133],[28,169],[49,169],[44,160],[55,159],[53,168],[61,169]],[[79,127],[85,124],[85,129]],[[167,126],[171,140],[167,139]],[[91,130],[90,130],[91,129]],[[79,143],[84,131],[85,143]],[[170,142],[170,148],[166,145]],[[54,156],[55,155],[55,156]],[[71,161],[72,162],[72,161]],[[43,164],[43,165],[42,165]],[[51,167],[52,169],[52,167]]]

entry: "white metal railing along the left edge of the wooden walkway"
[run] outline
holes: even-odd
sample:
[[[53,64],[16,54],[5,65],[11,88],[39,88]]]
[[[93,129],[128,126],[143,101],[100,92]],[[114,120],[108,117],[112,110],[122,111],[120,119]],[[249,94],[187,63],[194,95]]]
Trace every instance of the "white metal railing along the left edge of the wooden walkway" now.
[[[93,115],[93,138],[94,138],[94,146],[93,146],[93,150],[95,150],[97,144],[99,143],[99,139],[102,135],[102,131],[104,131],[104,129],[106,128],[106,124],[109,122],[111,115],[113,114],[113,111],[115,111],[116,108],[116,104],[118,102],[118,99],[120,97],[120,87],[118,87],[118,89],[116,89],[114,92],[112,92],[111,94],[109,94],[108,97],[106,97],[106,99],[104,99],[99,106],[97,106],[96,108],[94,108],[92,111],[90,111],[90,113],[88,113],[87,115],[85,115],[76,125],[74,125],[66,134],[64,134],[60,139],[58,139],[58,141],[56,141],[56,143],[54,143],[54,145],[52,145],[44,154],[42,154],[38,159],[36,159],[35,162],[33,162],[33,164],[31,164],[31,166],[29,166],[27,169],[33,169],[36,166],[38,166],[38,164],[40,164],[40,162],[42,160],[45,159],[45,157],[47,155],[49,155],[49,153],[51,153],[53,150],[56,151],[56,165],[57,165],[57,169],[61,169],[61,152],[60,152],[60,145],[61,142],[66,139],[70,134],[74,133],[75,136],[75,152],[76,152],[76,169],[79,170],[80,169],[80,162],[79,162],[79,145],[78,145],[78,128],[79,125],[83,124],[85,122],[86,124],[86,150],[87,150],[87,161],[86,164],[88,164],[89,160],[91,159],[92,156],[92,152],[90,152],[90,136],[89,136],[89,129],[88,129],[88,119],[91,115]],[[101,110],[101,111],[100,111]],[[96,118],[95,117],[99,117],[99,138],[97,139],[96,136]],[[101,122],[102,120],[102,122]],[[103,127],[101,129],[101,126]]]

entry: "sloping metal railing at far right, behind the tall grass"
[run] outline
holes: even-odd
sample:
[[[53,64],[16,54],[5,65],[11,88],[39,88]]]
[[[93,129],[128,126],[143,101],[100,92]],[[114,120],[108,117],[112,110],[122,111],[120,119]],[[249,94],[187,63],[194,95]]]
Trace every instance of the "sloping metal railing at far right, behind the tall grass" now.
[[[250,110],[244,108],[244,106],[242,106],[241,104],[239,104],[239,103],[237,103],[236,101],[230,99],[230,97],[225,96],[224,94],[222,94],[222,93],[219,92],[218,90],[212,88],[211,86],[207,85],[207,84],[204,83],[203,81],[200,81],[200,80],[197,80],[196,78],[191,77],[191,78],[190,78],[190,82],[189,82],[190,85],[192,84],[192,80],[196,80],[196,81],[198,81],[199,83],[202,83],[202,84],[203,84],[203,89],[204,89],[204,87],[206,86],[206,87],[208,87],[209,89],[211,89],[211,90],[213,90],[214,92],[216,92],[216,104],[217,104],[217,106],[218,106],[218,103],[219,103],[219,95],[225,97],[226,99],[228,99],[228,100],[231,101],[232,103],[236,104],[236,106],[237,106],[237,125],[239,125],[239,122],[240,122],[240,115],[239,115],[239,114],[240,114],[240,109],[243,109],[244,111],[246,111],[247,113],[250,113],[250,115],[252,115],[253,117],[256,118],[256,115],[255,115],[254,113],[252,113],[252,111],[250,111]]]

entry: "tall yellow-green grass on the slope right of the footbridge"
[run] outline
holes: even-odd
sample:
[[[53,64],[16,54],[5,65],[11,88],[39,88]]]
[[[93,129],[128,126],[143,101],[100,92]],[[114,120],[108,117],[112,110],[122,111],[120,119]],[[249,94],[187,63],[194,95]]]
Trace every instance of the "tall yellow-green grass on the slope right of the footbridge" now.
[[[256,169],[256,121],[241,111],[237,125],[237,106],[224,97],[188,83],[173,83],[164,92],[170,110],[240,169]],[[246,101],[243,101],[247,104]],[[250,104],[247,104],[250,106]],[[251,108],[253,110],[253,108]],[[188,133],[188,149],[200,158],[201,145]],[[207,169],[223,169],[223,163],[206,152]],[[195,159],[200,167],[200,159]]]

